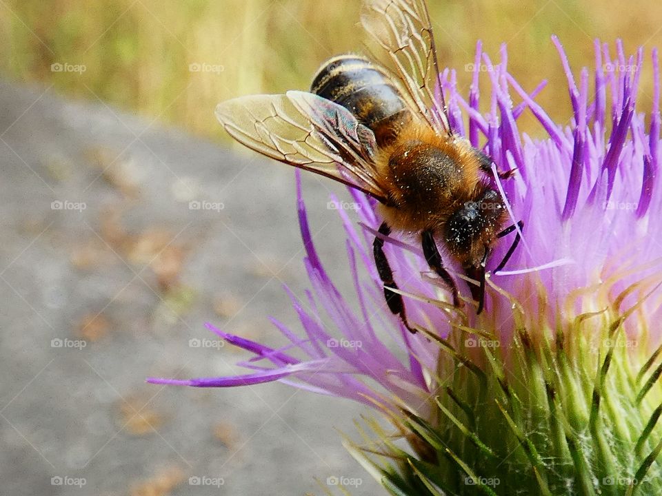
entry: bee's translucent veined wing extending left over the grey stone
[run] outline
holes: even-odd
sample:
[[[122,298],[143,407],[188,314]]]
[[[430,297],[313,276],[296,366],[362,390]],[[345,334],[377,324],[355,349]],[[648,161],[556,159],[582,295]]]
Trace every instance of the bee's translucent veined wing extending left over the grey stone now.
[[[216,116],[256,152],[387,200],[374,168],[374,134],[337,103],[299,91],[259,94],[219,103]]]

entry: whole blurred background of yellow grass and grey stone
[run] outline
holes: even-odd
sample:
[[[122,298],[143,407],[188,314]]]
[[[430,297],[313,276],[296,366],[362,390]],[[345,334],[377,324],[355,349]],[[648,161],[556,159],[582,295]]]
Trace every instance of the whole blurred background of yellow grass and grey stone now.
[[[550,36],[574,70],[593,41],[643,45],[662,3],[433,1],[443,67],[468,90],[477,40],[559,122],[570,116]],[[200,390],[148,376],[239,373],[204,327],[282,344],[303,296],[292,170],[230,149],[223,99],[306,89],[360,51],[359,1],[0,0],[0,494],[379,492],[337,431],[348,402],[280,384]],[[483,80],[488,78],[483,78]],[[485,91],[488,89],[485,86]],[[528,112],[519,125],[541,134]],[[337,185],[305,175],[321,258],[351,295]],[[351,214],[351,212],[350,212]],[[313,477],[319,478],[319,485]],[[331,481],[331,482],[329,482]]]

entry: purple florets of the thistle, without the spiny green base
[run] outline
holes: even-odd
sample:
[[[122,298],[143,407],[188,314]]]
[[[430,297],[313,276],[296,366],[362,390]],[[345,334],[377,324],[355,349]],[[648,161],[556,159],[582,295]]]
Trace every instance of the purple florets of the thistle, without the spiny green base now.
[[[662,318],[662,223],[654,217],[662,211],[657,51],[652,52],[654,97],[647,124],[647,116],[635,107],[643,50],[636,58],[626,59],[619,41],[612,58],[608,46],[596,41],[591,90],[589,71],[582,70],[577,81],[561,43],[555,37],[553,43],[568,78],[572,103],[572,116],[561,125],[534,101],[544,83],[527,94],[508,73],[505,46],[501,62],[495,65],[478,43],[468,100],[457,90],[455,72],[442,74],[454,130],[466,131],[472,145],[490,154],[499,169],[516,167],[514,179],[495,180],[508,200],[512,223],[523,220],[525,227],[523,242],[506,269],[490,274],[486,310],[480,316],[474,315],[471,305],[459,310],[448,304],[448,291],[428,275],[418,247],[406,239],[385,238],[410,320],[441,338],[460,327],[490,329],[499,333],[502,344],[508,344],[518,319],[528,329],[565,329],[581,314],[605,307],[624,316],[639,308],[647,322]],[[487,114],[479,111],[481,61],[490,68]],[[514,105],[514,98],[521,103]],[[539,121],[545,138],[519,132],[518,119],[527,109]],[[338,211],[348,236],[356,290],[352,298],[358,313],[350,309],[317,255],[297,172],[303,262],[312,289],[306,301],[289,295],[305,335],[274,321],[287,344],[272,349],[208,324],[226,342],[254,354],[240,364],[250,373],[192,380],[151,378],[148,382],[229,387],[278,380],[371,406],[405,408],[425,417],[441,381],[436,373],[439,344],[425,333],[412,335],[388,310],[372,260],[372,238],[379,236],[380,224],[374,200],[351,189],[350,194],[360,205],[359,227],[343,210]],[[508,251],[509,239],[496,245],[488,270]],[[468,294],[461,269],[452,265],[450,269],[461,283],[461,292]],[[323,323],[322,312],[332,326]],[[635,316],[625,319],[624,325],[634,337],[642,331]]]

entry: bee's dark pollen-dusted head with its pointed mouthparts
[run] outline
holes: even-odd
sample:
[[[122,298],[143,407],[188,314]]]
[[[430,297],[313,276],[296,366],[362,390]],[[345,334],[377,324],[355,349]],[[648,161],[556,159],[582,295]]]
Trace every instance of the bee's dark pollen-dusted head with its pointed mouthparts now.
[[[479,282],[478,286],[470,285],[474,300],[479,302],[479,310],[483,306],[485,262],[505,216],[501,195],[487,188],[477,200],[461,205],[446,225],[448,248],[462,263],[466,275]]]

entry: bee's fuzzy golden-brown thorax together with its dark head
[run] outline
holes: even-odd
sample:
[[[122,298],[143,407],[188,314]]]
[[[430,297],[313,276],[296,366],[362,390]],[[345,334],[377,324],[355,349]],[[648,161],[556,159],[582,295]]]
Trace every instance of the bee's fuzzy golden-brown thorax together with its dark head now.
[[[466,139],[411,123],[379,149],[376,162],[389,192],[390,204],[379,206],[388,225],[412,233],[434,231],[463,266],[481,263],[506,214]]]

